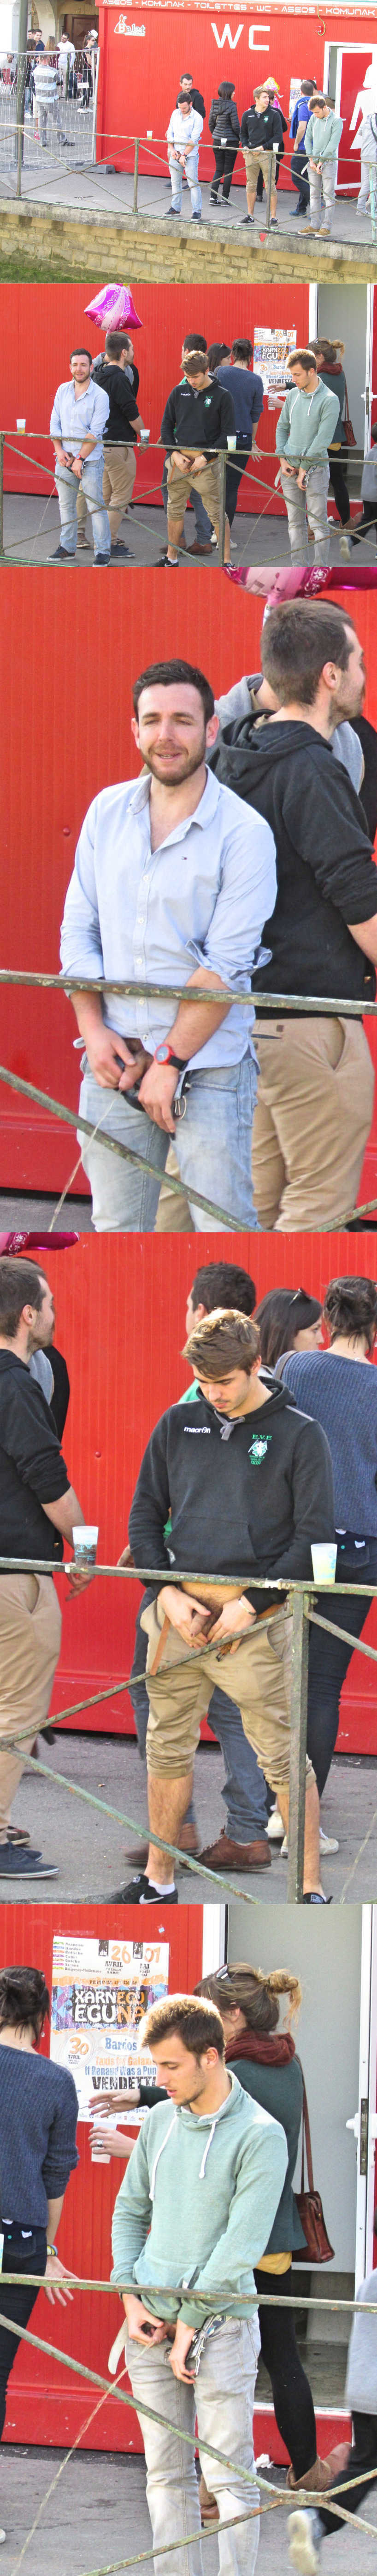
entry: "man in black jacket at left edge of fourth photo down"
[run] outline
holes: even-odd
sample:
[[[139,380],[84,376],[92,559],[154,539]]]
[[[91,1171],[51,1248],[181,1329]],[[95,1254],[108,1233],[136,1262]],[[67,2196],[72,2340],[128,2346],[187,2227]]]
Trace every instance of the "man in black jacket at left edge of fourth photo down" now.
[[[72,1546],[72,1528],[85,1517],[67,1476],[51,1409],[31,1376],[31,1355],[49,1350],[51,1337],[54,1298],[44,1270],[5,1255],[0,1260],[0,1556],[31,1558],[31,1574],[13,1569],[0,1574],[0,1880],[8,1880],[10,1891],[23,1878],[56,1878],[56,1868],[10,1826],[23,1770],[23,1752],[13,1749],[13,1739],[28,1726],[26,1752],[31,1752],[49,1713],[59,1662],[59,1600],[51,1574],[33,1574],[33,1561],[62,1564],[64,1538]],[[87,1579],[72,1566],[72,1592]]]

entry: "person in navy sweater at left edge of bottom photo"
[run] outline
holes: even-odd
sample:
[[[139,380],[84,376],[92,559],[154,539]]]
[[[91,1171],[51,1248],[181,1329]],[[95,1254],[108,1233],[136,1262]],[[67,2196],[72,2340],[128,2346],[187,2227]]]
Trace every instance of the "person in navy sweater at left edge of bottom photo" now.
[[[38,2290],[28,2275],[41,2272],[46,2298],[64,2308],[72,2298],[56,2254],[56,2228],[64,2190],[77,2156],[77,2087],[64,2066],[38,2058],[49,1986],[41,1968],[0,1971],[0,2308],[15,2326],[28,2326]],[[23,2272],[18,2287],[8,2277]],[[0,2326],[0,2437],[5,2427],[8,2378],[21,2334]],[[5,2540],[5,2532],[0,2532]]]

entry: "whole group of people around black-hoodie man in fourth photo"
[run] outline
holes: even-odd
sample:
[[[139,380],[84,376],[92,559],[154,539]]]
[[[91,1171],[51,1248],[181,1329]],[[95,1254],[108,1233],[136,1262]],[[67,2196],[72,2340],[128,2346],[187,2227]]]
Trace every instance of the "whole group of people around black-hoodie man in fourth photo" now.
[[[321,1829],[349,1638],[377,1582],[377,1401],[372,1352],[377,1288],[331,1280],[326,1301],[256,1288],[233,1262],[205,1262],[187,1296],[180,1404],[156,1422],[128,1510],[118,1564],[162,1566],[144,1587],[128,1680],[138,1752],[149,1770],[149,1837],[126,1904],[177,1904],[182,1865],[256,1873],[290,1834],[290,1587],[313,1579],[313,1546],[336,1543],[336,1631],[310,1631],[305,1765],[305,1901],[323,1904],[321,1862],[339,1844]],[[321,1347],[318,1347],[321,1345]],[[67,1386],[54,1352],[54,1301],[38,1262],[0,1257],[0,1502],[10,1558],[31,1574],[0,1577],[0,1878],[8,1888],[56,1875],[13,1824],[13,1801],[38,1726],[49,1718],[62,1610],[54,1561],[82,1522],[62,1425]],[[254,1417],[254,1419],[251,1419]],[[203,1448],[205,1443],[205,1448]],[[123,1533],[121,1533],[123,1535]],[[36,1574],[46,1564],[46,1574]],[[190,1582],[172,1584],[195,1564]],[[203,1571],[200,1571],[203,1569]],[[69,1566],[69,1595],[95,1569]],[[215,1579],[215,1582],[213,1582]],[[256,1584],[264,1584],[259,1592]],[[280,1589],[285,1587],[287,1589]],[[331,1623],[333,1597],[323,1595]],[[195,1664],[192,1664],[195,1656]],[[208,1716],[223,1754],[226,1826],[203,1847],[192,1765]],[[21,1728],[21,1744],[15,1741]],[[123,1759],[123,1757],[121,1757]],[[156,1837],[156,1839],[154,1839]]]

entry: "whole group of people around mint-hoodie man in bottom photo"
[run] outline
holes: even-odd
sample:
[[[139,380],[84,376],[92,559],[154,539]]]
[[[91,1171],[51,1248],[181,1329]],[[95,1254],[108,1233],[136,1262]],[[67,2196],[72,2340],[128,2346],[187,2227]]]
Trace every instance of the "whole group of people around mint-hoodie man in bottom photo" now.
[[[123,2161],[110,2272],[123,2326],[110,2370],[126,2362],[136,2398],[154,2563],[172,2543],[187,2576],[200,2576],[205,2522],[218,2527],[221,2576],[256,2566],[259,2354],[290,2460],[287,2488],[297,2496],[287,2540],[303,2576],[315,2576],[321,2540],[341,2530],[336,2496],[356,2514],[377,2473],[377,2316],[367,2313],[377,2303],[377,2272],[362,2282],[351,2326],[351,2447],[341,2465],[336,2452],[318,2455],[310,2380],[287,2303],[292,2259],[308,2267],[295,2197],[305,2102],[292,2038],[300,2002],[290,1968],[223,1965],[192,1994],[167,1994],[146,2009],[138,2045],[154,2061],[154,2084],[103,2094],[100,2115],[97,2097],[92,2105],[92,2146],[105,2138],[110,2156]],[[54,2236],[77,2166],[80,2102],[72,2076],[41,2053],[46,2025],[44,1971],[5,1965],[0,2192],[18,2215],[3,2223],[0,2434],[8,2378],[38,2298],[31,2275],[44,2280],[51,2303],[74,2295]],[[118,2107],[123,2123],[131,2105],[141,2110],[136,2141],[105,2117]],[[267,2293],[274,2306],[264,2306]]]

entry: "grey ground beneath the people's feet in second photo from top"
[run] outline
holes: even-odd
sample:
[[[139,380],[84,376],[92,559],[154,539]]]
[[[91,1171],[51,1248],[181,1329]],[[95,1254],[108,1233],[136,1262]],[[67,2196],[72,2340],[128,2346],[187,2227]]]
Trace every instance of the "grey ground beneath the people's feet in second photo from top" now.
[[[162,456],[151,459],[151,482],[154,479],[156,479],[156,484],[162,482]],[[46,492],[49,492],[49,484],[46,484]],[[231,564],[290,564],[287,518],[277,518],[277,513],[274,513],[274,495],[267,495],[267,489],[264,489],[264,466],[262,466],[259,500],[262,500],[259,515],[244,515],[241,507],[236,510],[233,531],[231,531],[231,541],[233,541],[231,544]],[[87,531],[90,531],[90,520],[87,520]],[[49,564],[51,556],[54,556],[54,549],[59,546],[59,502],[56,502],[56,492],[49,492],[49,500],[44,500],[44,492],[38,492],[38,495],[31,495],[31,492],[5,492],[5,536],[3,536],[3,544],[5,544],[5,562],[8,564],[28,564],[28,567],[31,564]],[[167,549],[167,518],[164,518],[164,510],[154,507],[151,502],[138,502],[136,500],[131,505],[131,510],[126,513],[123,523],[121,523],[121,544],[128,546],[128,562],[131,564],[159,564],[159,556]],[[187,546],[185,562],[187,564],[192,562],[192,572],[197,569],[197,562],[203,562],[205,572],[210,572],[213,567],[218,569],[218,546],[213,546],[213,551],[200,559],[200,556],[190,556],[190,546],[192,544],[195,544],[195,518],[192,518],[192,510],[190,510],[187,518],[185,518],[185,546]],[[339,523],[339,518],[331,520],[331,556],[328,559],[331,559],[331,564],[341,564],[344,562],[344,556],[341,556],[341,523]],[[313,562],[313,546],[310,546],[310,562]],[[90,538],[90,533],[87,533],[87,546],[77,549],[74,564],[85,567],[85,569],[87,569],[87,564],[92,567],[92,538]],[[372,564],[372,567],[377,564],[374,528],[372,528],[372,536],[362,546],[354,546],[354,551],[351,551],[351,572],[356,569],[356,564]],[[128,564],[123,564],[121,569],[128,572]]]

